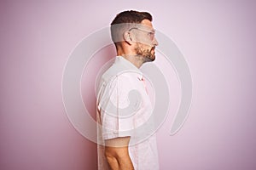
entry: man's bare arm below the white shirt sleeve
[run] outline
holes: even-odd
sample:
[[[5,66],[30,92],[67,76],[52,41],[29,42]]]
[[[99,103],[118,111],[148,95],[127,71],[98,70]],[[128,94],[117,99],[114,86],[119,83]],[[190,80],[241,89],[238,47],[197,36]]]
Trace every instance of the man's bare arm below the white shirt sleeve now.
[[[134,170],[129,156],[130,137],[105,140],[105,156],[112,170]]]

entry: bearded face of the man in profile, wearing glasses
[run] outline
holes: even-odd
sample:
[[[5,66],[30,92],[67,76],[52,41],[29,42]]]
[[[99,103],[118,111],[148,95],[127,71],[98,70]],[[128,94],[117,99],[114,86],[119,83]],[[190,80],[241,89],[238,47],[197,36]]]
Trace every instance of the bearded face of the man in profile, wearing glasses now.
[[[137,55],[143,57],[144,62],[154,61],[154,48],[158,45],[154,37],[154,28],[150,20],[143,20],[141,26],[134,29],[136,31],[137,43],[135,51]]]

